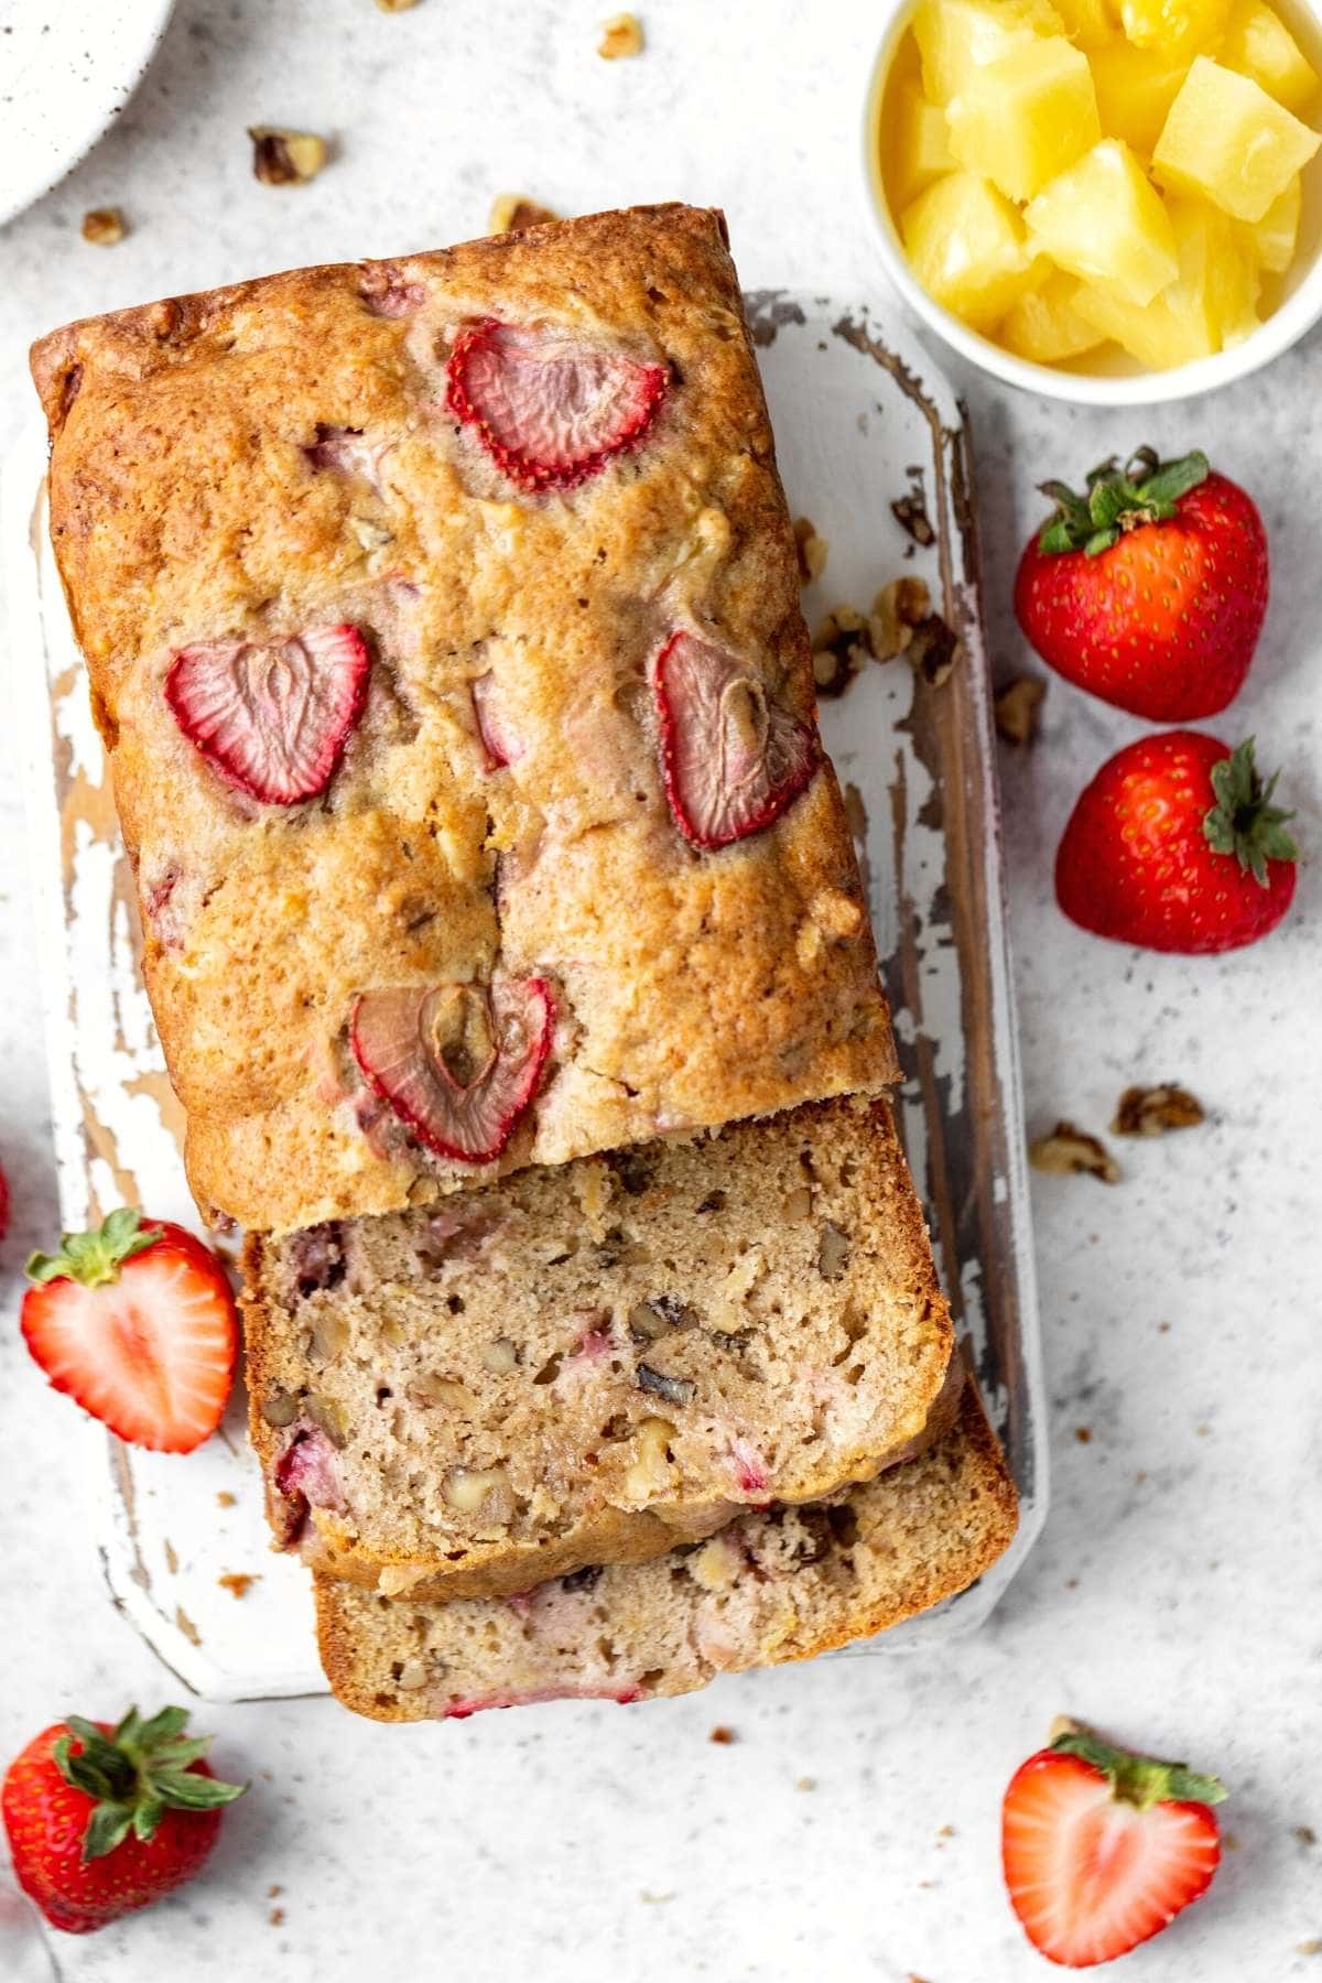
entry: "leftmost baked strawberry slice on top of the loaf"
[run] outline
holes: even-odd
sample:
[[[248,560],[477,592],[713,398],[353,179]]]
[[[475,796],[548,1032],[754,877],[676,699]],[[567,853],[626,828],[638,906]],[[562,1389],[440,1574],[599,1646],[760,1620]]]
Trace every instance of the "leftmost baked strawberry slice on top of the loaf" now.
[[[297,805],[329,785],[363,714],[369,672],[357,627],[204,641],[178,650],[165,700],[226,783],[264,805]]]

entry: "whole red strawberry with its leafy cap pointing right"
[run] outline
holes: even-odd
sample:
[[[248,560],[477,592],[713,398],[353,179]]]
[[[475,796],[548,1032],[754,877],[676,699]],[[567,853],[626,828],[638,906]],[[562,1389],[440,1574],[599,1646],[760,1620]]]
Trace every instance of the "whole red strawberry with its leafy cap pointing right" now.
[[[1140,738],[1078,797],[1056,853],[1056,900],[1096,936],[1146,950],[1237,950],[1294,898],[1292,813],[1272,805],[1253,738],[1197,730]]]

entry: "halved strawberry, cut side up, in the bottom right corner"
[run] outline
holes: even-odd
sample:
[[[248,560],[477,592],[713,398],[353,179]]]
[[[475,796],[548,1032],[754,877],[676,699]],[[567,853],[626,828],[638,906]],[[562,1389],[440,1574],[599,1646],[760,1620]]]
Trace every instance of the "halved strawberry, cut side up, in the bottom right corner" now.
[[[1011,1906],[1052,1963],[1088,1969],[1148,1941],[1207,1892],[1217,1777],[1070,1727],[1011,1777],[1001,1858]]]

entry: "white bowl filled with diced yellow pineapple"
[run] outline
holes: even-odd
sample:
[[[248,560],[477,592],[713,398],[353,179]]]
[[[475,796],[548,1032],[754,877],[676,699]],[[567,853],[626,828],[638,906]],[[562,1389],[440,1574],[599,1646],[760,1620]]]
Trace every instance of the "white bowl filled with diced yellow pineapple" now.
[[[1179,399],[1322,315],[1304,0],[898,0],[866,169],[906,301],[1031,391]]]

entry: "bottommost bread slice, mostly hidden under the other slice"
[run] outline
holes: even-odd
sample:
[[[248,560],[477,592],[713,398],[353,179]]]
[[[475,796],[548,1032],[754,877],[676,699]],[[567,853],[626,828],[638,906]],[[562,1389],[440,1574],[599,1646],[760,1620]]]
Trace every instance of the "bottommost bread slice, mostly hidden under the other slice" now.
[[[745,1513],[654,1563],[581,1571],[505,1602],[418,1604],[317,1576],[321,1660],[343,1705],[377,1721],[692,1693],[937,1604],[997,1561],[1015,1523],[969,1386],[957,1424],[920,1459],[832,1505]]]

